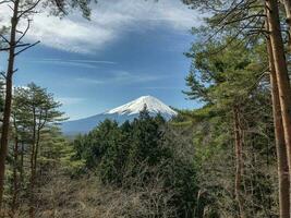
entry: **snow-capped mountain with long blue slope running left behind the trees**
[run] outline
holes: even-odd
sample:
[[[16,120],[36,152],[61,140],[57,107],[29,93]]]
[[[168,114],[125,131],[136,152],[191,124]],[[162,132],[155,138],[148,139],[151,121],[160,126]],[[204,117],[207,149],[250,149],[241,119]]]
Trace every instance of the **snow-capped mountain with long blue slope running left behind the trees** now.
[[[142,96],[133,101],[108,110],[106,112],[62,123],[61,129],[64,134],[74,135],[77,133],[87,133],[106,119],[116,120],[123,123],[126,120],[132,121],[137,118],[140,111],[146,107],[150,116],[161,114],[166,120],[177,116],[177,112],[169,106],[153,96]]]

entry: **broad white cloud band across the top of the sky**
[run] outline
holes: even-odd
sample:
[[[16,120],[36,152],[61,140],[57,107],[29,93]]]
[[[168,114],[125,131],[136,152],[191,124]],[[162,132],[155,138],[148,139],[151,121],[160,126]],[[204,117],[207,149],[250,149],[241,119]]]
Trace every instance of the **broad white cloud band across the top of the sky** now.
[[[0,22],[8,19],[9,11],[8,7],[0,7]],[[29,40],[41,40],[48,47],[86,53],[102,49],[131,29],[166,25],[185,32],[198,23],[197,12],[187,9],[180,0],[99,0],[93,5],[92,21],[80,14],[60,20],[39,13],[35,15],[27,36]]]

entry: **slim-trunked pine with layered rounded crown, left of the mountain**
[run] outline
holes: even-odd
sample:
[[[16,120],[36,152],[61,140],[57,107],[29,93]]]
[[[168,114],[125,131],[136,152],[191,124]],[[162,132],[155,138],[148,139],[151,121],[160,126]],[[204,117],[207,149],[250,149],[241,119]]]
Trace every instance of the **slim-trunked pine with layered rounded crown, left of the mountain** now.
[[[29,138],[29,216],[35,216],[35,186],[37,179],[38,155],[44,132],[50,126],[63,121],[63,113],[59,111],[60,102],[53,99],[52,94],[47,93],[34,83],[27,88],[16,88],[14,96],[14,124],[15,130],[24,126]],[[19,125],[19,126],[17,126]],[[17,149],[15,149],[17,152]]]

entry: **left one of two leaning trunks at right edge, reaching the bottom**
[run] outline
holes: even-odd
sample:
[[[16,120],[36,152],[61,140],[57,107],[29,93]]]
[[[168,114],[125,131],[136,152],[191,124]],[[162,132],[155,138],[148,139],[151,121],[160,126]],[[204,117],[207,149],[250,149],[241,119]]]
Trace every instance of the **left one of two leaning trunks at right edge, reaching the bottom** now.
[[[270,39],[267,38],[267,51],[269,56],[269,71],[271,84],[272,116],[275,125],[276,150],[278,162],[279,180],[279,211],[280,218],[290,218],[290,180],[287,147],[283,135],[282,114],[280,107],[280,97],[274,65],[272,50]]]

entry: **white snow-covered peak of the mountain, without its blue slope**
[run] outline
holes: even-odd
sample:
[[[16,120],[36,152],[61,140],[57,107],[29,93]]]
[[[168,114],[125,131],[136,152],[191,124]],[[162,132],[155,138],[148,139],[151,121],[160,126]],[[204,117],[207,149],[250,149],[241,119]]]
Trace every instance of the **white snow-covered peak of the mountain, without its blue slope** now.
[[[159,99],[153,96],[142,96],[131,102],[107,111],[106,114],[136,114],[140,113],[140,111],[142,111],[145,106],[150,113],[161,113],[167,114],[169,117],[177,114],[177,112],[172,110],[169,106],[165,105]]]

